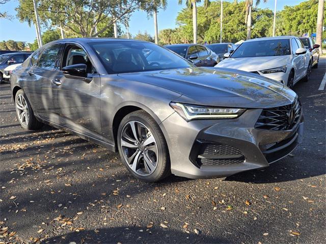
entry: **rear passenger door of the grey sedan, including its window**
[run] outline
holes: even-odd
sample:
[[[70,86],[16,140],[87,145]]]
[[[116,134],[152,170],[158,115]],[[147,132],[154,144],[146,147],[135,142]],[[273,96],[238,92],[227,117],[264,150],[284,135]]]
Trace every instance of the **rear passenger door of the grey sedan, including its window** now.
[[[59,72],[59,63],[63,44],[57,43],[48,45],[39,57],[31,58],[32,67],[27,72],[28,81],[25,82],[26,94],[33,106],[34,111],[43,119],[58,123],[58,120],[52,114],[53,96],[52,82]],[[37,63],[34,59],[37,59]],[[34,60],[34,61],[33,61]]]

